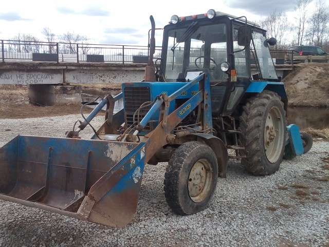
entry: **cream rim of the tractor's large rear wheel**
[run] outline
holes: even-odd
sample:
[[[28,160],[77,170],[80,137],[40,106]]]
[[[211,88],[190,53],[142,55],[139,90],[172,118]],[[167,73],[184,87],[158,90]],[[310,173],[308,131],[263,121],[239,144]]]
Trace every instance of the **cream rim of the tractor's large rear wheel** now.
[[[264,127],[264,149],[270,163],[276,163],[282,153],[285,131],[283,122],[279,108],[272,107],[268,112]]]

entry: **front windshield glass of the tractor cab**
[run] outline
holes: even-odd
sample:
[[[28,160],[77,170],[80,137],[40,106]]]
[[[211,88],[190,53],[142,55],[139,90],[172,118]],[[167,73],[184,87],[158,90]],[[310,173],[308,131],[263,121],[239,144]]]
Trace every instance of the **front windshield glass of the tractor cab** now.
[[[168,31],[166,81],[192,80],[206,72],[210,80],[226,80],[220,69],[227,61],[226,24],[201,25],[191,23],[188,27]]]

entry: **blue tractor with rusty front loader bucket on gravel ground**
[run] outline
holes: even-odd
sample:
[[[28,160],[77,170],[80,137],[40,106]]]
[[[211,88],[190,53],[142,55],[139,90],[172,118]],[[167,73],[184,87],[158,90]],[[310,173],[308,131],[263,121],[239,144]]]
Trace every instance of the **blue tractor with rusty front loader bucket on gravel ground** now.
[[[228,158],[253,175],[275,173],[312,137],[286,126],[287,95],[266,31],[246,17],[209,10],[173,15],[161,58],[141,82],[122,84],[65,137],[17,136],[0,149],[0,199],[110,226],[136,213],[145,164],[168,162],[165,197],[179,215],[207,207]],[[154,63],[154,60],[155,63]],[[123,98],[124,108],[113,114]],[[90,140],[79,132],[106,105]],[[228,152],[228,150],[231,150]]]

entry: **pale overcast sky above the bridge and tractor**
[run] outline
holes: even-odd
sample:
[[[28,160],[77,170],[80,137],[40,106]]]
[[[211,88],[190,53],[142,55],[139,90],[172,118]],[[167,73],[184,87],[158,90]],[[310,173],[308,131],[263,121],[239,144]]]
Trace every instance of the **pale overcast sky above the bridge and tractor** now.
[[[215,9],[258,21],[274,10],[287,11],[291,16],[295,5],[296,0],[3,0],[0,39],[26,33],[45,41],[41,32],[48,27],[56,35],[74,32],[86,36],[89,43],[147,45],[151,14],[156,28],[162,28],[173,14],[193,15]],[[157,44],[161,43],[159,39]]]

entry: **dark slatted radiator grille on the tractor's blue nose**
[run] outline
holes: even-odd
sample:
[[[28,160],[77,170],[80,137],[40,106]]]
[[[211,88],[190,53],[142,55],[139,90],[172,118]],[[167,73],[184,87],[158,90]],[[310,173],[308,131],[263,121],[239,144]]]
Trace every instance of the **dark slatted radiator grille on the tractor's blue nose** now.
[[[134,113],[144,102],[150,101],[150,89],[147,86],[143,87],[124,87],[124,110],[126,126],[131,126],[134,123]],[[135,115],[135,121],[140,121],[149,112],[150,107],[142,108],[138,114]],[[150,125],[148,123],[144,130],[150,131]]]

